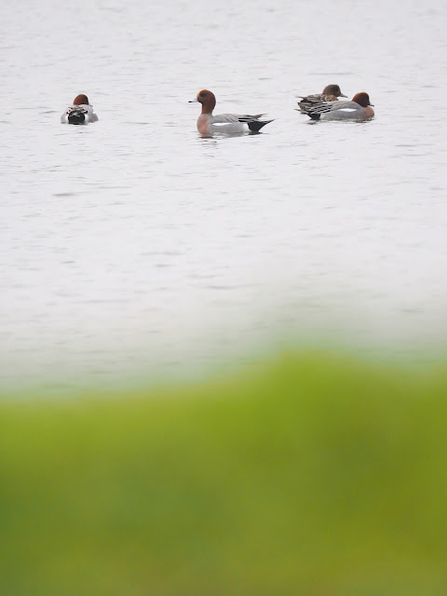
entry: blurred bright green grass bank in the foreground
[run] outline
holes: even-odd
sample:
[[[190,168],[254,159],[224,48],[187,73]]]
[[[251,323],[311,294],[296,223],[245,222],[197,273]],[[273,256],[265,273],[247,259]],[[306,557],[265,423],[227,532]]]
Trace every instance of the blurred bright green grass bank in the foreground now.
[[[0,594],[447,593],[447,373],[286,354],[0,401]]]

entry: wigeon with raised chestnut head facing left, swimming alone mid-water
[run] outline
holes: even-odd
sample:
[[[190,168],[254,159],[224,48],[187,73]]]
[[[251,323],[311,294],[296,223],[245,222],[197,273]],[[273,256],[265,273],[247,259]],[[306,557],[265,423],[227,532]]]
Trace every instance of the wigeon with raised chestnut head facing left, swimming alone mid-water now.
[[[198,101],[202,104],[202,113],[197,119],[197,130],[202,136],[209,136],[213,132],[234,134],[241,132],[259,132],[263,126],[272,120],[259,120],[263,114],[251,116],[249,114],[218,114],[213,115],[216,106],[214,93],[208,89],[202,89],[197,93],[196,99],[189,103]]]

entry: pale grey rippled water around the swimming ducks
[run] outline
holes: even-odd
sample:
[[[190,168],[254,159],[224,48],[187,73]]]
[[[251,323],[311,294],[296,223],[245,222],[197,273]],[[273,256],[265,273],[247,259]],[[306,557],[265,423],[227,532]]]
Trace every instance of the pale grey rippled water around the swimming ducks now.
[[[0,5],[0,387],[447,345],[442,0]],[[376,117],[311,123],[338,83]],[[199,137],[216,113],[261,134]],[[99,122],[62,125],[86,93]]]

